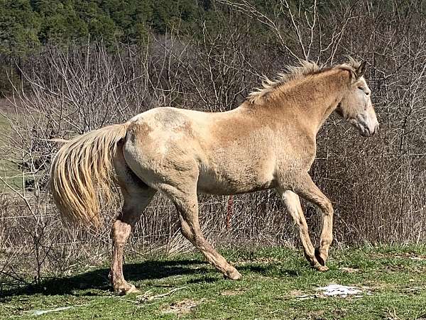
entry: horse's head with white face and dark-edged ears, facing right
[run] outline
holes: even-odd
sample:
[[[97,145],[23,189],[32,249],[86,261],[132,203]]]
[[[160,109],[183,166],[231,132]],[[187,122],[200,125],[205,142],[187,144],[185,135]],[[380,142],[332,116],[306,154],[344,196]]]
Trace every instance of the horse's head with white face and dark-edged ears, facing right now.
[[[351,74],[351,82],[336,112],[357,128],[362,136],[373,136],[378,131],[378,121],[371,104],[371,90],[364,79],[366,63],[355,63],[347,69]]]

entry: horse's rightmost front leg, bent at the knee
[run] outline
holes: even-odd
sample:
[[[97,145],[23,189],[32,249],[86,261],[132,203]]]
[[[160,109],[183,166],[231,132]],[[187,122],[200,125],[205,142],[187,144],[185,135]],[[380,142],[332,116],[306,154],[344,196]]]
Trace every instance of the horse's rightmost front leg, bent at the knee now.
[[[322,211],[320,247],[315,250],[315,257],[321,265],[325,265],[328,258],[329,246],[333,241],[334,209],[332,202],[321,192],[307,173],[297,182],[294,191],[307,201],[319,206]]]

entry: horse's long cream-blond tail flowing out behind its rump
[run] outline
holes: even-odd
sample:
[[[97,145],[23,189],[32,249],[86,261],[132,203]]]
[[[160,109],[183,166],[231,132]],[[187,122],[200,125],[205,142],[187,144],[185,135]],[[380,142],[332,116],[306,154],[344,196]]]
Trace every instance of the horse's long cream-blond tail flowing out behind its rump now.
[[[90,131],[62,145],[50,169],[50,188],[62,217],[99,226],[99,196],[111,199],[113,160],[129,123]]]

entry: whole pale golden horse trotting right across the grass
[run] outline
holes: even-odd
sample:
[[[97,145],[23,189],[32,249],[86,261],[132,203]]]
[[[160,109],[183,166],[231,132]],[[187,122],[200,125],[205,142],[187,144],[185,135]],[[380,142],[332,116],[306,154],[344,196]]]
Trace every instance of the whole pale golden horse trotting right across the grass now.
[[[183,236],[226,277],[237,280],[241,274],[202,236],[197,193],[275,188],[299,228],[307,260],[325,271],[333,208],[308,171],[315,159],[317,132],[333,111],[362,136],[378,130],[364,67],[352,59],[328,68],[302,62],[275,81],[265,79],[263,88],[231,111],[156,108],[74,138],[60,148],[52,164],[55,202],[68,220],[99,224],[97,190],[109,190],[115,171],[124,206],[112,226],[110,280],[121,294],[135,291],[124,280],[124,244],[157,191],[178,209]],[[322,210],[317,250],[299,196]]]

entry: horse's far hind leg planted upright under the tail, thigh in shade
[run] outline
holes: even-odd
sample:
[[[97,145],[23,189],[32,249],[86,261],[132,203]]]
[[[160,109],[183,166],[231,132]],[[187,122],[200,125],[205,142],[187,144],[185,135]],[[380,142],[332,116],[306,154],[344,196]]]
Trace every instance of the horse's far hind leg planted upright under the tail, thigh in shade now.
[[[114,287],[114,292],[126,294],[135,292],[134,285],[124,280],[123,275],[123,251],[124,245],[130,236],[133,226],[138,221],[144,209],[153,199],[156,190],[148,187],[136,177],[127,167],[124,159],[114,162],[114,167],[124,197],[124,205],[112,226],[111,238],[113,252],[109,280]]]

